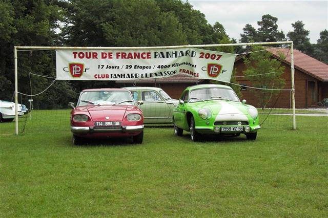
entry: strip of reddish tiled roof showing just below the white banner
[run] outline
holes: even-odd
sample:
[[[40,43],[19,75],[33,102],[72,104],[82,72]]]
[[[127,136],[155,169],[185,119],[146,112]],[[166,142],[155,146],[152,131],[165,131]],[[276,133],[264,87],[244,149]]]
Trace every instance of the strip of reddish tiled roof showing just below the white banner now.
[[[175,82],[182,82],[182,83],[196,83],[200,82],[202,79],[197,79],[192,77],[188,74],[176,74],[174,76],[166,77],[166,78],[158,78],[156,82],[160,83],[175,83]],[[155,83],[155,79],[144,79],[144,80],[117,80],[116,83]]]

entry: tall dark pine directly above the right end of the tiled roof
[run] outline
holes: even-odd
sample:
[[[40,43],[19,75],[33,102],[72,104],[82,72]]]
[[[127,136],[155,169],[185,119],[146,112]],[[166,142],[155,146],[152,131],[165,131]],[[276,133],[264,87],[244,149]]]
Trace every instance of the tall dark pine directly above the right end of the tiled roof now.
[[[294,42],[294,48],[308,55],[313,54],[313,47],[308,37],[310,31],[304,29],[304,24],[300,20],[296,21],[292,26],[294,31],[288,32],[287,36],[289,40]]]

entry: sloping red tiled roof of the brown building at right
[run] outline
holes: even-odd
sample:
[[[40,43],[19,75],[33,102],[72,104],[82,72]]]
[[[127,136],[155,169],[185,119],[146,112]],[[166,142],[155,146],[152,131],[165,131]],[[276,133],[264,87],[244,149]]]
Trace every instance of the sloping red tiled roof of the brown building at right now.
[[[291,64],[290,49],[273,48],[269,52],[277,59]],[[284,60],[280,58],[280,53],[286,56]],[[294,67],[318,80],[328,81],[328,65],[296,49],[294,49]]]

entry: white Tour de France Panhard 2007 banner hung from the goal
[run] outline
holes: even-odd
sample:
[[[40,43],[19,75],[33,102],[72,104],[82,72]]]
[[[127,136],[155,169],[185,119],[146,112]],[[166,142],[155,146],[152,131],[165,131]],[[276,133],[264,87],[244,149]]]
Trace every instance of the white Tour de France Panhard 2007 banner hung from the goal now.
[[[56,50],[58,80],[136,80],[188,74],[230,82],[236,54],[202,49]]]

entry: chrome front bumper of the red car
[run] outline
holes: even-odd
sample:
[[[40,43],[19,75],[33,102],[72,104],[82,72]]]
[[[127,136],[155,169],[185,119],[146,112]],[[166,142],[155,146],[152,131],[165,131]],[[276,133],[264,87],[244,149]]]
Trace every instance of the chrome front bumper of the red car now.
[[[144,125],[121,126],[119,128],[93,128],[93,126],[71,126],[72,133],[126,133],[140,132]]]

